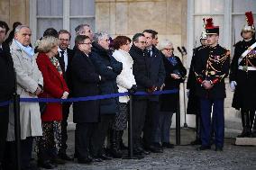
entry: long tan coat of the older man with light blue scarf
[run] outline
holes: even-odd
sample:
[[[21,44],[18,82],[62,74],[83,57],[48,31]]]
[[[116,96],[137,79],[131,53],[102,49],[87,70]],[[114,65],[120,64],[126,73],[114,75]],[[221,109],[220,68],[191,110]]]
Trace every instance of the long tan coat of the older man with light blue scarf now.
[[[43,79],[35,58],[30,58],[14,41],[10,49],[17,78],[17,94],[22,98],[37,98],[33,93],[38,84],[43,85]],[[42,135],[38,103],[20,103],[20,117],[21,139]],[[10,106],[9,119],[7,141],[13,141],[15,139],[13,106]]]

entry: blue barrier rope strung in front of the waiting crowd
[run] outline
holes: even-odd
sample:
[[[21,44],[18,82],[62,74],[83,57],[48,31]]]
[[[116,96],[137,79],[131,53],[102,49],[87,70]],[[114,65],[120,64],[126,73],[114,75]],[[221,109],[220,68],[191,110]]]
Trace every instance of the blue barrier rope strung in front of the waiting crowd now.
[[[165,90],[165,91],[155,91],[152,94],[146,92],[136,92],[134,95],[160,95],[160,94],[176,94],[178,93],[178,89],[173,90]],[[109,99],[119,96],[129,95],[129,93],[117,93],[117,94],[103,94],[103,95],[94,95],[87,97],[76,97],[69,99],[55,99],[55,98],[21,98],[20,102],[23,103],[76,103],[76,102],[85,102],[85,101],[94,101],[94,100],[102,100]],[[11,101],[5,101],[0,103],[0,106],[5,106],[11,103]]]

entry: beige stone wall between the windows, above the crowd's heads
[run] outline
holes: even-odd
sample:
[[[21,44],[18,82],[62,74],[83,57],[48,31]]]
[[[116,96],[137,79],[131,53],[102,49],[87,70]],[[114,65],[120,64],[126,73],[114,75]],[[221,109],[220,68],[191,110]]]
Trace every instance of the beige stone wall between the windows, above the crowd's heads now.
[[[153,29],[175,46],[186,43],[187,0],[96,0],[96,31],[133,37]]]

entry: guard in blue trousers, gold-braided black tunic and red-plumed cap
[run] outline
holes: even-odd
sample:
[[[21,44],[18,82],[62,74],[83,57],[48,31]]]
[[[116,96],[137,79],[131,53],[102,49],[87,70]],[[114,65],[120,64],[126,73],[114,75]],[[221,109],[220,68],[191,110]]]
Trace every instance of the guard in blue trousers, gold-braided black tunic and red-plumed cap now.
[[[212,18],[206,20],[206,35],[208,46],[198,51],[194,68],[202,121],[202,145],[197,150],[211,148],[211,112],[213,111],[215,151],[222,151],[224,147],[224,98],[226,96],[224,78],[229,73],[230,51],[218,44],[219,27],[214,26]]]

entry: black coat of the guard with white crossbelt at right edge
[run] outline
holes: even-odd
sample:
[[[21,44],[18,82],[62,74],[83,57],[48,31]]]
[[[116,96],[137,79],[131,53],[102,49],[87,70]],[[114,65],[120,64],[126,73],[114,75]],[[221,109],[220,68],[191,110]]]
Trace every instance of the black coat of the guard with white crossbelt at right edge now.
[[[239,63],[239,58],[242,53],[248,49],[254,42],[255,39],[249,41],[239,41],[235,44],[233,59],[231,63],[230,81],[237,83],[233,94],[233,108],[245,109],[245,110],[256,110],[256,70],[248,70],[247,72],[239,69],[239,67],[247,66],[256,67],[256,48],[252,49],[251,52],[242,59]]]

